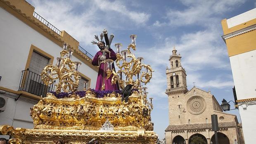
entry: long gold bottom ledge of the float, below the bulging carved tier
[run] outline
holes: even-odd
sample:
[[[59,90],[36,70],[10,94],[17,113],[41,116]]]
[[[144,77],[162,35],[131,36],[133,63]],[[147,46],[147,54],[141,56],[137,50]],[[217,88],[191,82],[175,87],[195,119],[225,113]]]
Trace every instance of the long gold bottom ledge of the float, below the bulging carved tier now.
[[[14,130],[9,125],[0,126],[2,135],[12,135],[10,144],[55,144],[62,139],[68,144],[88,144],[97,139],[100,144],[155,144],[157,135],[153,131],[104,131],[104,130]]]

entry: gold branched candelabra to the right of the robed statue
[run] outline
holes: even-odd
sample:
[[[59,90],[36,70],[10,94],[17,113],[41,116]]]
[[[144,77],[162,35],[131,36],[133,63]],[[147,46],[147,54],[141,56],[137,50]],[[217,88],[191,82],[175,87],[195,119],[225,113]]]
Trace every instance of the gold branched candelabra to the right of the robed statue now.
[[[147,84],[152,78],[152,72],[154,72],[150,65],[142,64],[142,57],[136,58],[135,54],[131,53],[131,49],[136,50],[136,35],[131,35],[130,38],[132,39],[132,43],[128,45],[127,50],[123,50],[121,53],[119,53],[119,51],[122,44],[115,44],[118,52],[116,54],[116,66],[120,68],[120,70],[118,72],[113,70],[107,71],[107,78],[113,74],[111,79],[112,84],[115,84],[116,81],[119,81],[119,85],[121,83],[121,88],[125,87],[127,84],[133,85],[134,88],[140,87],[141,83]],[[145,71],[142,71],[142,68],[145,68]],[[122,79],[122,74],[124,74],[126,78]]]

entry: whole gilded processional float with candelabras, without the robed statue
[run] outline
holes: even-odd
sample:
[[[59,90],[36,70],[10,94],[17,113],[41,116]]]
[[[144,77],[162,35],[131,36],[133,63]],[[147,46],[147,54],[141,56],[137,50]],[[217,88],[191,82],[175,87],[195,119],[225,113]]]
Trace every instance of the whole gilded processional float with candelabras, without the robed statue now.
[[[114,35],[108,38],[104,29],[101,40],[103,36],[108,48]],[[122,44],[115,44],[118,71],[111,67],[113,60],[106,59],[106,77],[122,91],[97,91],[88,88],[88,83],[78,91],[81,63],[71,60],[73,48],[64,43],[57,64],[47,65],[41,73],[46,85],[55,80],[57,84],[55,92],[48,92],[31,108],[34,128],[1,125],[0,135],[12,136],[9,144],[155,144],[152,98],[148,102],[147,87],[141,85],[150,81],[153,70],[131,52],[136,50],[136,35],[130,38],[127,50],[120,52]]]

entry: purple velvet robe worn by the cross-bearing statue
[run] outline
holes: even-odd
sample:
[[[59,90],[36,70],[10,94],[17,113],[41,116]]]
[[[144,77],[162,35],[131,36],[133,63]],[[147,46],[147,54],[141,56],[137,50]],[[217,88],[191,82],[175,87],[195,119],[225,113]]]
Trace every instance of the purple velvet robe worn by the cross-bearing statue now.
[[[106,59],[113,59],[115,61],[116,53],[111,48],[109,48],[109,51],[110,51],[110,57],[109,57],[109,53],[106,52]],[[102,55],[102,53],[103,53],[102,51],[97,52],[92,60],[92,65],[99,66],[100,64],[95,90],[102,90],[103,79],[105,81],[105,90],[119,90],[118,83],[116,83],[115,85],[111,85],[111,78],[113,74],[111,74],[110,78],[107,79],[107,73],[106,71],[104,71],[104,66],[106,66],[107,64],[106,62],[100,63],[100,58],[99,58]],[[114,63],[112,64],[112,69],[113,68],[115,69]],[[103,76],[105,76],[105,78],[103,78]]]

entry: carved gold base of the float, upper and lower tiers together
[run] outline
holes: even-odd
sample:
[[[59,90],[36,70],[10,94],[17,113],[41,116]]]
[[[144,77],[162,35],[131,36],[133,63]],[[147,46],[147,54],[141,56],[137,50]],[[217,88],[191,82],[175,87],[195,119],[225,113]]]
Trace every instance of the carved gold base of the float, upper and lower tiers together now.
[[[31,108],[34,129],[0,126],[1,135],[11,135],[11,144],[155,144],[158,136],[150,122],[151,109],[142,95],[134,92],[129,103],[121,102],[119,94],[97,98],[88,90],[85,97],[57,99],[48,93]],[[109,120],[112,130],[103,130]],[[109,127],[108,127],[109,128]],[[111,127],[110,127],[111,128]],[[92,143],[95,144],[95,143]]]

